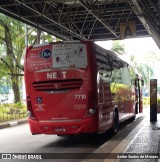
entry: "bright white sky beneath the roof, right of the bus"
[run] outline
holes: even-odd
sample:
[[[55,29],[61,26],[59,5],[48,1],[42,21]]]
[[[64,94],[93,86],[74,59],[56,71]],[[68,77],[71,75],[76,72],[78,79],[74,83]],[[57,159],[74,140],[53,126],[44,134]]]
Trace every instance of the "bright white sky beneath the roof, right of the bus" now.
[[[145,38],[135,38],[135,39],[125,39],[122,40],[126,55],[125,58],[130,60],[130,55],[135,55],[135,60],[138,63],[147,63],[154,68],[154,79],[158,79],[158,84],[160,85],[160,63],[159,61],[153,62],[152,60],[145,59],[147,53],[155,53],[160,58],[160,49],[153,40],[152,37]],[[110,50],[112,47],[113,41],[99,41],[96,42],[105,49]]]

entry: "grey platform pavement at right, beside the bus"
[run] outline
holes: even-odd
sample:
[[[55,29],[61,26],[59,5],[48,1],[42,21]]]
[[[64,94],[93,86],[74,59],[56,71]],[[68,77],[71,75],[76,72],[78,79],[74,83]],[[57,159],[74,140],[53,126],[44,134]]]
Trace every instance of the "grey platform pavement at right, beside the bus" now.
[[[146,108],[133,122],[141,117],[143,119],[125,138],[120,138],[124,133],[120,131],[112,138],[112,143],[107,141],[94,152],[106,154],[106,159],[88,159],[85,162],[160,162],[160,114],[157,114],[157,122],[150,122],[150,110]],[[119,143],[111,149],[117,141]]]

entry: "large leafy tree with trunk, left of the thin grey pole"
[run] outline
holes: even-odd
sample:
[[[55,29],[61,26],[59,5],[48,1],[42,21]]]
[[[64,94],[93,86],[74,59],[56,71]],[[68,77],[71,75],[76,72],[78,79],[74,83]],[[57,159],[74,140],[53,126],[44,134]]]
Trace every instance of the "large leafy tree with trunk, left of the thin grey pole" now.
[[[22,78],[23,66],[21,60],[24,49],[23,23],[0,14],[0,46],[3,51],[0,54],[1,77],[10,80],[14,92],[14,102],[20,101],[19,84]]]

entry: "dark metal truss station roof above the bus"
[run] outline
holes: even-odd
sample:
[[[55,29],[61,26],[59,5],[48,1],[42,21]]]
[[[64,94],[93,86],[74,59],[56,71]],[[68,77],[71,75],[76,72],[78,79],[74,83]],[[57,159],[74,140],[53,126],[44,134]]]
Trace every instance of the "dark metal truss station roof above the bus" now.
[[[0,12],[62,40],[123,39],[133,29],[160,47],[160,0],[0,0]]]

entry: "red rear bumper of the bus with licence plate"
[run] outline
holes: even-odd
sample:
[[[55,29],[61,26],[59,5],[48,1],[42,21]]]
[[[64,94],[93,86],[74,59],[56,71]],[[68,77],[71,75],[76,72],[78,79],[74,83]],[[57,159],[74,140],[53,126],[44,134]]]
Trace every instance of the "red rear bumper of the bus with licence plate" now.
[[[98,132],[97,117],[75,121],[38,121],[28,119],[32,134],[81,134]]]

